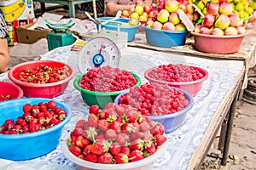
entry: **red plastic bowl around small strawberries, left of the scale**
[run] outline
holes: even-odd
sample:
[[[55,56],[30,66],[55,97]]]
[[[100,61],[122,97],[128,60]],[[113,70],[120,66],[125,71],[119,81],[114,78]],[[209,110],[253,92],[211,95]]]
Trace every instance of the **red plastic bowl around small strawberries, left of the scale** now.
[[[51,82],[45,84],[36,84],[36,83],[29,83],[29,82],[21,82],[18,77],[21,71],[26,69],[34,69],[38,65],[48,65],[50,67],[63,67],[66,65],[71,74],[64,80],[59,82]],[[24,95],[26,97],[38,97],[38,98],[55,98],[56,96],[61,95],[68,86],[68,82],[74,77],[74,70],[70,65],[65,63],[55,61],[55,60],[35,60],[35,61],[28,61],[24,63],[20,63],[19,65],[15,65],[8,73],[9,79],[20,88],[22,88]]]

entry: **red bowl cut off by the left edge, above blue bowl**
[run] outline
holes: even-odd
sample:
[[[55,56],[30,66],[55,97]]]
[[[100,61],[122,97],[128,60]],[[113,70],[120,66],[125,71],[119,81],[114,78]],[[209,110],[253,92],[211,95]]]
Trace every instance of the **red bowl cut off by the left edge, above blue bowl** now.
[[[11,99],[20,99],[23,97],[23,91],[12,82],[0,82],[0,95],[10,95]]]

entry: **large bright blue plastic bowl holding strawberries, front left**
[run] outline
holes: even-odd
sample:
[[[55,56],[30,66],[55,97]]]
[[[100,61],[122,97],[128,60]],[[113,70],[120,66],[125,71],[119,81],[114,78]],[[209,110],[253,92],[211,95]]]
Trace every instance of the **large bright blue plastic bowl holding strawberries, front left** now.
[[[26,105],[26,103],[35,105],[49,100],[44,98],[23,98],[1,102],[0,124],[3,125],[6,119],[16,120],[18,116],[21,116],[23,114],[22,106]],[[70,108],[60,101],[55,100],[55,102],[57,106],[67,112],[66,119],[54,127],[35,133],[0,134],[0,158],[13,161],[29,160],[44,156],[51,150],[55,150],[61,138],[61,129],[71,118]]]

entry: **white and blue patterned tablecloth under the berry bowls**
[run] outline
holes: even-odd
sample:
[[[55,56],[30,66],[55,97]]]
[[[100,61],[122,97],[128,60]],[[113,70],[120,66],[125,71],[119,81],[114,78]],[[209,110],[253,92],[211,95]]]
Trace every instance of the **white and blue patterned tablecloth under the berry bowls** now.
[[[137,73],[142,82],[147,82],[143,77],[148,68],[167,63],[183,63],[195,65],[206,69],[209,78],[203,83],[201,91],[195,96],[195,105],[189,111],[183,126],[173,133],[168,133],[168,149],[163,156],[154,161],[154,170],[189,169],[195,151],[200,146],[206,135],[207,128],[213,117],[230,97],[230,92],[236,87],[237,77],[243,70],[243,62],[236,60],[211,60],[189,57],[177,54],[160,53],[143,48],[127,49],[128,53],[121,57],[119,68]],[[54,59],[72,65],[76,76],[81,74],[78,65],[78,52],[71,51],[70,46],[55,48],[41,56],[42,59]],[[8,73],[0,75],[1,81],[9,81]],[[71,107],[73,116],[62,131],[61,139],[67,137],[73,129],[75,122],[85,118],[89,106],[84,101],[79,91],[73,87],[73,81],[69,83],[67,90],[61,96],[56,97]],[[30,161],[8,161],[0,159],[0,169],[11,170],[66,170],[75,169],[75,164],[67,160],[61,151],[61,146],[45,156]]]

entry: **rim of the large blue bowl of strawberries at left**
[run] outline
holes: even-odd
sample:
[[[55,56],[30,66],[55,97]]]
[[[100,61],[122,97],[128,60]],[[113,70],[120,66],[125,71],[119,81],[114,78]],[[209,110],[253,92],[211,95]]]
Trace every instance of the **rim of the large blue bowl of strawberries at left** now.
[[[17,103],[17,102],[21,102],[21,103],[32,103],[32,102],[47,102],[49,100],[55,100],[56,104],[57,105],[63,105],[65,106],[65,110],[66,113],[67,113],[67,116],[66,118],[61,121],[59,124],[53,126],[53,127],[50,127],[50,128],[47,128],[47,129],[44,129],[44,130],[40,130],[40,131],[37,131],[37,132],[34,132],[34,133],[21,133],[21,134],[3,134],[3,135],[0,135],[0,139],[23,139],[23,138],[33,138],[33,137],[37,137],[37,136],[40,136],[42,134],[47,134],[47,133],[52,133],[54,131],[56,131],[57,129],[60,129],[61,127],[63,127],[65,124],[67,124],[67,122],[70,121],[71,119],[71,116],[72,116],[72,111],[70,109],[70,107],[57,100],[57,99],[46,99],[46,98],[22,98],[22,99],[12,99],[12,100],[9,100],[8,102],[0,102],[0,107],[3,106],[3,105],[12,105],[12,103]]]

